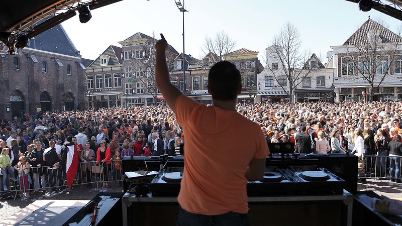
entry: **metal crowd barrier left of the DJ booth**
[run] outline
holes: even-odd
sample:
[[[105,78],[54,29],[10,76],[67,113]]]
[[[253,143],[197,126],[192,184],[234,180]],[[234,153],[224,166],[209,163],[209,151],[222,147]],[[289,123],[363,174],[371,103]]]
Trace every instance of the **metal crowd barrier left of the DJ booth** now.
[[[92,166],[96,166],[96,161],[92,162],[79,162],[77,167],[77,173],[73,179],[71,186],[87,185],[89,187],[96,186],[96,189],[102,189],[105,191],[105,183],[118,182],[119,186],[122,186],[122,174],[123,170],[117,170],[114,166],[116,162],[119,166],[122,166],[122,161],[110,161],[111,164],[106,164],[103,168],[103,172],[93,172]],[[63,190],[67,187],[66,172],[61,165],[57,169],[48,169],[48,166],[35,167],[38,173],[34,173],[34,167],[30,168],[30,172],[26,175],[21,175],[18,170],[15,170],[16,181],[12,180],[9,172],[7,175],[0,175],[0,195],[6,192],[15,192],[14,199],[18,196],[30,197],[35,191],[47,191],[52,192],[56,190]],[[86,172],[86,169],[89,169]],[[88,177],[86,174],[89,174]],[[37,174],[37,175],[35,175]],[[42,175],[42,176],[41,176]],[[3,177],[6,176],[6,184],[3,184]],[[8,190],[5,191],[3,186],[6,185]]]

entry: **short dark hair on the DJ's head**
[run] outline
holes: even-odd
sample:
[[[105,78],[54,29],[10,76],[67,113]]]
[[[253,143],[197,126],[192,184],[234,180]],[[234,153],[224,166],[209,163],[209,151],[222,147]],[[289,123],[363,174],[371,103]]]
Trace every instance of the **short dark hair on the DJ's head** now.
[[[211,67],[208,74],[208,87],[217,100],[233,100],[241,86],[240,71],[229,61],[221,61]]]

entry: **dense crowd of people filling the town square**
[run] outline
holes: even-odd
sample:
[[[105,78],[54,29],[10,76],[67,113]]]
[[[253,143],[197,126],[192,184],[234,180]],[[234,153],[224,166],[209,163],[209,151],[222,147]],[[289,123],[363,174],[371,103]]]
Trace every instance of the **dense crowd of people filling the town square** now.
[[[258,102],[238,103],[236,110],[260,125],[267,143],[292,142],[299,153],[360,154],[368,174],[401,182],[402,102]],[[165,105],[44,112],[37,117],[1,119],[0,126],[0,189],[4,191],[9,189],[8,174],[11,180],[28,185],[27,189],[33,187],[34,192],[45,189],[45,175],[61,186],[58,180],[66,174],[65,155],[70,145],[77,146],[81,163],[98,163],[104,167],[103,177],[108,178],[110,171],[121,176],[119,160],[126,156],[182,155],[179,146],[185,135]],[[375,155],[389,158],[366,158]],[[39,170],[42,166],[47,166],[47,172]],[[57,170],[60,166],[63,170]],[[80,170],[90,175],[91,166]]]

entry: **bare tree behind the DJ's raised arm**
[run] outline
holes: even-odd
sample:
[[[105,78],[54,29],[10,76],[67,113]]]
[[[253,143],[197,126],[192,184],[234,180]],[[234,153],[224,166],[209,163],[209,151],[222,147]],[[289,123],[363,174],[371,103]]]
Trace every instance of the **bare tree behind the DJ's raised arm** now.
[[[132,66],[133,78],[131,79],[137,90],[137,84],[140,84],[139,89],[144,90],[144,94],[151,94],[154,99],[154,104],[158,104],[158,87],[156,86],[155,79],[155,44],[158,40],[155,39],[155,33],[152,33],[144,44],[141,51],[134,51],[130,64]],[[141,55],[142,54],[142,55]],[[172,71],[173,60],[177,57],[177,54],[172,51],[172,47],[169,45],[169,49],[166,52],[167,63],[169,65],[169,71]]]

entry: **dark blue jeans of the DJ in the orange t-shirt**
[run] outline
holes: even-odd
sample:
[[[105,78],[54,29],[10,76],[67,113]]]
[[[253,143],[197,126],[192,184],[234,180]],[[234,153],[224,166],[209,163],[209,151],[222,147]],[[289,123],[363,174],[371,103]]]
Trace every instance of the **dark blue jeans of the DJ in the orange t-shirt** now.
[[[247,226],[249,225],[248,213],[227,212],[219,215],[203,215],[191,213],[181,206],[179,207],[176,226]]]

